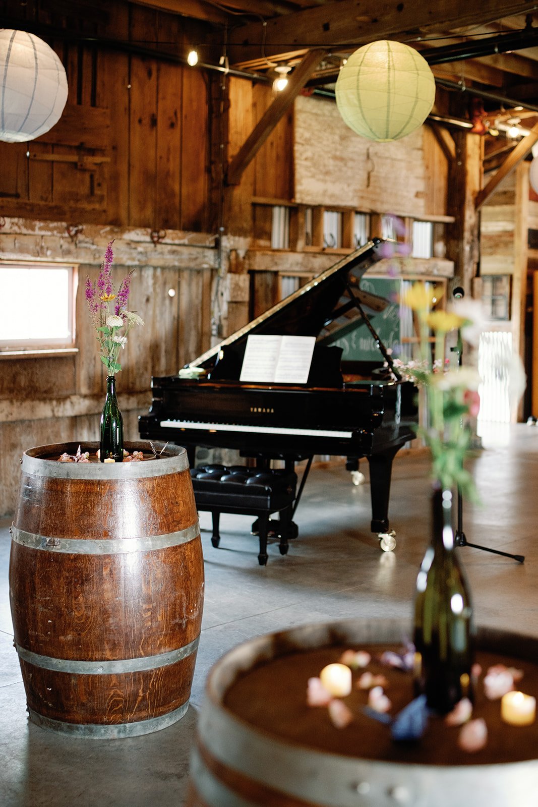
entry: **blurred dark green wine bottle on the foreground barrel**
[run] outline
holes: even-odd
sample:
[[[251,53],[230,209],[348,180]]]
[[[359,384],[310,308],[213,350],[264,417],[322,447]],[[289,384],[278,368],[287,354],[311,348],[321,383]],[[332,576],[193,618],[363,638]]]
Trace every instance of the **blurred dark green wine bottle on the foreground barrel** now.
[[[452,525],[452,493],[435,489],[432,542],[416,581],[415,694],[436,713],[473,700],[473,608],[458,562]]]

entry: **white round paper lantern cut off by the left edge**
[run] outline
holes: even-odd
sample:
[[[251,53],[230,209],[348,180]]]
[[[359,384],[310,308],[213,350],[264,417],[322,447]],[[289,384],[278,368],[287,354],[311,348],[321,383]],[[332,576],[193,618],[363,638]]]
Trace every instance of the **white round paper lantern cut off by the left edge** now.
[[[64,65],[27,31],[0,31],[0,140],[22,143],[52,129],[67,101]]]

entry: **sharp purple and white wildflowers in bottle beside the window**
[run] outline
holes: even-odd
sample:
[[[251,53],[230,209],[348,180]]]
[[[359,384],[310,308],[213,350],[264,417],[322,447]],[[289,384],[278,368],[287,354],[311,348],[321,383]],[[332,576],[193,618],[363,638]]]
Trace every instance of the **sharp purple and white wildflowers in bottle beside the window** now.
[[[119,351],[127,345],[127,334],[136,325],[143,325],[144,320],[133,311],[127,311],[127,301],[131,290],[131,270],[115,291],[112,283],[112,240],[106,247],[104,260],[97,281],[86,278],[85,298],[97,332],[100,358],[106,367],[106,375],[111,378],[122,369],[119,363]]]

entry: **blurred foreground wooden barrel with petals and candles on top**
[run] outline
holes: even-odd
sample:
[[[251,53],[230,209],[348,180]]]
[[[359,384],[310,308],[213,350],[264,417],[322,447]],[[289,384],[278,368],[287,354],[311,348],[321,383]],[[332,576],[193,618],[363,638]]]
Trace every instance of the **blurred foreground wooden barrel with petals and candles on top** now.
[[[480,693],[489,741],[469,753],[459,728],[431,718],[419,742],[394,742],[390,726],[365,713],[366,693],[344,698],[353,721],[337,729],[327,707],[307,706],[307,680],[343,650],[368,650],[369,670],[389,679],[391,714],[412,699],[411,674],[382,666],[383,650],[400,650],[409,623],[342,621],[307,625],[254,639],[213,667],[198,722],[188,807],[534,807],[538,724],[503,724],[500,702]],[[538,640],[482,628],[478,662],[515,661],[519,686],[538,686]],[[509,666],[507,664],[507,666]]]

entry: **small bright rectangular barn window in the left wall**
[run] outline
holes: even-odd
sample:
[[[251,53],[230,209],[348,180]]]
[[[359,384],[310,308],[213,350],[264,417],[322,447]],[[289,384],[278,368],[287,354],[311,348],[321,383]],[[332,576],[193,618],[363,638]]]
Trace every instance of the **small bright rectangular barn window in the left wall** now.
[[[73,349],[77,266],[0,261],[0,353]]]

